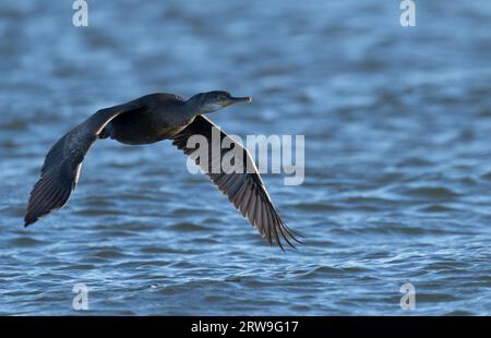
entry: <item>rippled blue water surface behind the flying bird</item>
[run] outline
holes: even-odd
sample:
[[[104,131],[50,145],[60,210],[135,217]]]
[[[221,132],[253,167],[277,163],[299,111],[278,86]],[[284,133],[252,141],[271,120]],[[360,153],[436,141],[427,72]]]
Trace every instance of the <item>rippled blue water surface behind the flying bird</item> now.
[[[491,313],[491,5],[418,1],[0,3],[0,314]],[[99,142],[70,204],[23,228],[50,145],[152,92],[252,95],[226,131],[304,134],[306,182],[266,176],[270,248],[169,143]],[[403,311],[399,287],[416,288]],[[80,312],[79,312],[80,313]]]

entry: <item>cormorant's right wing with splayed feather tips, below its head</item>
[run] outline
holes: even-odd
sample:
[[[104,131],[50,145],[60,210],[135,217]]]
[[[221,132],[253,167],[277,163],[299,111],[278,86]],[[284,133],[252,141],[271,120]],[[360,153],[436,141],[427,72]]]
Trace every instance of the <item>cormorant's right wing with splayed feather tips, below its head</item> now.
[[[221,147],[219,147],[219,150],[213,152],[213,129],[216,129],[219,132],[220,143],[224,138],[228,137],[228,141],[233,146],[230,146],[228,149],[221,149]],[[284,248],[280,237],[292,248],[295,248],[294,241],[300,243],[297,239],[300,234],[288,228],[283,222],[282,218],[279,218],[249,152],[233,138],[220,131],[218,126],[207,118],[197,116],[192,123],[172,137],[172,144],[183,150],[185,155],[191,156],[191,158],[193,158],[193,152],[196,149],[189,147],[188,140],[193,135],[203,135],[208,141],[207,164],[201,162],[201,160],[195,158],[196,165],[201,167],[215,185],[227,195],[228,200],[238,210],[240,210],[242,216],[246,217],[253,227],[258,228],[262,237],[265,238],[270,244],[276,242],[282,250]],[[220,170],[219,173],[213,173],[212,166],[221,162],[224,156],[231,149],[235,152],[243,152],[243,164],[241,167],[244,170],[242,172],[232,173],[226,173]],[[217,158],[214,158],[213,156]]]

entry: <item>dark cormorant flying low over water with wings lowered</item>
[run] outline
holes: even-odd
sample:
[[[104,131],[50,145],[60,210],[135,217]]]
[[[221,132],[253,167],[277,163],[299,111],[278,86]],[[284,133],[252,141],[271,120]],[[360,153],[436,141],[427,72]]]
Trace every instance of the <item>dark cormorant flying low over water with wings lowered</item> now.
[[[250,98],[231,97],[227,92],[209,92],[185,100],[173,94],[157,93],[98,110],[63,135],[49,150],[41,168],[41,178],[31,193],[25,226],[68,202],[77,183],[82,161],[96,140],[110,137],[130,145],[172,140],[173,145],[185,155],[191,155],[194,150],[188,146],[191,136],[201,135],[211,141],[212,131],[219,131],[203,114],[240,101],[250,101]],[[219,133],[220,140],[229,137],[221,131]],[[220,149],[218,155],[209,149],[208,162],[200,160],[196,164],[267,242],[276,242],[283,249],[282,237],[294,246],[292,241],[299,242],[297,233],[279,218],[249,152],[232,138],[230,141],[235,144],[233,149],[239,146],[243,152],[247,171],[208,170],[212,162],[219,161],[230,149]]]

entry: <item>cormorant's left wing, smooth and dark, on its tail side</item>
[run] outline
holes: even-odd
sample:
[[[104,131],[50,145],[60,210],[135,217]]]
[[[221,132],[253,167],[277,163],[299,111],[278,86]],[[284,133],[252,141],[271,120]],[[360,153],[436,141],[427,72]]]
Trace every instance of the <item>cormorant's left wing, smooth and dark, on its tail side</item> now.
[[[46,156],[40,179],[31,192],[25,227],[68,202],[79,180],[82,161],[100,131],[118,114],[137,108],[135,100],[98,110],[58,140]]]

